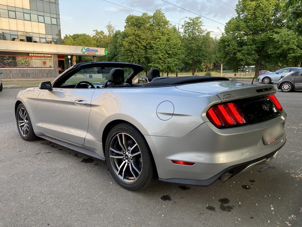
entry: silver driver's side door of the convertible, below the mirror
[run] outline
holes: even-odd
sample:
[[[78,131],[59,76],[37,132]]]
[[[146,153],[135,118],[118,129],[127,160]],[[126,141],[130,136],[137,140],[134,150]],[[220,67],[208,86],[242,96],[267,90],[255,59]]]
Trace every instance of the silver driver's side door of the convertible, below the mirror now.
[[[83,88],[42,90],[37,101],[43,132],[83,145],[94,91]]]

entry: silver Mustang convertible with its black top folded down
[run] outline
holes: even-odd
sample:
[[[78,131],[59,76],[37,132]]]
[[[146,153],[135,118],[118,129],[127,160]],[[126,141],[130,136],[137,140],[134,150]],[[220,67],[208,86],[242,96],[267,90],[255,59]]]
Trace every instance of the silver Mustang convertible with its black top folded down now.
[[[223,77],[133,83],[143,66],[79,63],[15,98],[18,131],[106,160],[129,190],[156,179],[207,186],[271,160],[286,141],[273,85]]]

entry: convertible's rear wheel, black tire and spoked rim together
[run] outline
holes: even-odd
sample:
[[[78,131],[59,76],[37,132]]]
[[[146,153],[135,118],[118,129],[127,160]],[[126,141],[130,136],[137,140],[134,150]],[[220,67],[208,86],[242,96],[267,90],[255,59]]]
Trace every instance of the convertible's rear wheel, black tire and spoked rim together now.
[[[112,177],[125,189],[140,190],[157,179],[147,141],[130,123],[111,129],[105,143],[105,156]]]

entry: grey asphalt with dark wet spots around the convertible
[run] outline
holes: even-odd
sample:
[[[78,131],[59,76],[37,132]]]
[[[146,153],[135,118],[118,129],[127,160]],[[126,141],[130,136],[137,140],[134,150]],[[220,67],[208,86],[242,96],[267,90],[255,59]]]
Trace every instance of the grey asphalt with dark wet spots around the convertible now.
[[[157,181],[131,192],[104,161],[22,140],[13,110],[18,90],[0,92],[0,227],[301,226],[302,92],[276,93],[288,113],[288,139],[267,165],[207,187]]]

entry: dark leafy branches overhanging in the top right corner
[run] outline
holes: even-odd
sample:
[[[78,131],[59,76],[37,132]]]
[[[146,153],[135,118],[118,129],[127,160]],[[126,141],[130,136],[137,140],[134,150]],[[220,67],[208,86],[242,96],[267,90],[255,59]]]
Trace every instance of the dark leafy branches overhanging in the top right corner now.
[[[302,35],[302,0],[288,0],[285,4],[288,11],[286,23],[297,34]]]

